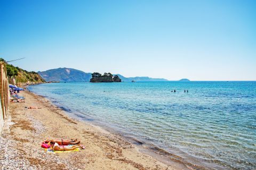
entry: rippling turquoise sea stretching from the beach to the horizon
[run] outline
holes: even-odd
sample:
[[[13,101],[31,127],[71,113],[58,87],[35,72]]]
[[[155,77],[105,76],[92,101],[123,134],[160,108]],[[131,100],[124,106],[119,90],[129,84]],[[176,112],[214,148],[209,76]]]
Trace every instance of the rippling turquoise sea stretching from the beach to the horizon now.
[[[213,169],[256,169],[256,81],[67,82],[28,89],[143,147]]]

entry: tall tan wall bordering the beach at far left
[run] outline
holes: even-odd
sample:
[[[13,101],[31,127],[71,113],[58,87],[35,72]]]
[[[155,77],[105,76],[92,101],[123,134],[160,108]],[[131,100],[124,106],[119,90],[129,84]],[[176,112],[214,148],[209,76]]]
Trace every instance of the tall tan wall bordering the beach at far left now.
[[[0,62],[0,133],[2,131],[4,120],[7,115],[7,110],[9,107],[9,83],[7,78],[7,72],[4,62]]]

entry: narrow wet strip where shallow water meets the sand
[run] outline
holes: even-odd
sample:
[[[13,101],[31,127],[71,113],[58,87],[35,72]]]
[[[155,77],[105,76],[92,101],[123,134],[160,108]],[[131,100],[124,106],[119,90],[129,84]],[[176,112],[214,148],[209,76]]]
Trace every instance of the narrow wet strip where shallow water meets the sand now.
[[[151,156],[157,161],[167,166],[171,166],[172,168],[175,168],[175,169],[214,169],[214,168],[225,169],[225,167],[222,167],[218,164],[203,162],[203,160],[190,157],[189,155],[187,155],[186,157],[180,157],[179,155],[173,154],[172,152],[169,152],[161,147],[155,146],[152,143],[147,143],[147,142],[145,143],[143,141],[140,141],[140,139],[123,135],[121,131],[118,131],[118,130],[116,131],[115,129],[107,126],[106,124],[100,124],[100,122],[91,121],[90,118],[80,117],[79,115],[74,114],[74,111],[71,111],[70,108],[66,106],[62,106],[60,103],[51,100],[51,98],[47,96],[36,94],[28,89],[27,91],[30,92],[30,94],[33,94],[40,98],[45,98],[46,100],[50,101],[51,105],[61,109],[64,112],[63,114],[67,115],[69,118],[75,121],[93,126],[93,128],[96,128],[101,132],[109,133],[111,135],[115,135],[118,138],[122,138],[126,142],[129,142],[131,145],[134,145],[134,148],[137,151],[139,151],[141,154]],[[187,161],[187,159],[189,159],[190,161]]]

